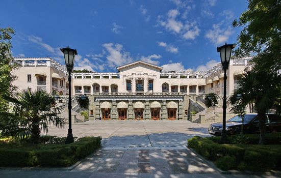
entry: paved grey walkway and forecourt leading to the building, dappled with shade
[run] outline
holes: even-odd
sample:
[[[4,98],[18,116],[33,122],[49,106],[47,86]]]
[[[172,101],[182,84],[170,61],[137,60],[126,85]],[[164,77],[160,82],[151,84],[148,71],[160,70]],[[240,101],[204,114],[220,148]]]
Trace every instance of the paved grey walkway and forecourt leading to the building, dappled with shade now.
[[[210,136],[208,126],[188,121],[90,121],[74,124],[74,136],[102,136],[103,147],[71,171],[7,169],[0,170],[0,177],[242,176],[221,175],[186,147],[188,138]],[[66,136],[67,128],[51,127],[48,134]]]

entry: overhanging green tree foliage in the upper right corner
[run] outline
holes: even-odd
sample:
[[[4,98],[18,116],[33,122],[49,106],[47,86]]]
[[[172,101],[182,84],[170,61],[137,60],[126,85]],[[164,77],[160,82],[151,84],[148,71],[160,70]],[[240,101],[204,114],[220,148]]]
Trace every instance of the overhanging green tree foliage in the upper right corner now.
[[[281,69],[280,0],[248,0],[248,9],[233,26],[243,27],[234,50],[236,56],[252,55],[252,70]]]

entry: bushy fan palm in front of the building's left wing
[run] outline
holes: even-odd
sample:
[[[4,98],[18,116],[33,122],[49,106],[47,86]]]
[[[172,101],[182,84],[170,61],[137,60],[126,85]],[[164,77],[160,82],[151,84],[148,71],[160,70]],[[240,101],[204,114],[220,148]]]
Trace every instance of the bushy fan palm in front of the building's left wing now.
[[[23,90],[17,95],[9,94],[4,99],[10,104],[0,110],[0,130],[2,136],[13,136],[17,139],[31,138],[33,143],[39,143],[40,133],[48,132],[48,124],[62,128],[64,118],[58,114],[53,94],[45,90],[30,92]]]

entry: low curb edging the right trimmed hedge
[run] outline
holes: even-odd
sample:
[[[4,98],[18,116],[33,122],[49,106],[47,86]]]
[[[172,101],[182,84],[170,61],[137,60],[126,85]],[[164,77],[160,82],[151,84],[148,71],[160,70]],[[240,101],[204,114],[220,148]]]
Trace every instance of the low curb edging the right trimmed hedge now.
[[[221,170],[218,168],[213,162],[203,158],[201,155],[197,154],[193,149],[187,147],[190,151],[192,151],[196,156],[200,159],[206,161],[208,164],[212,166],[213,169],[217,170],[221,174],[244,174],[244,175],[281,175],[281,171],[267,171],[267,172],[251,172],[251,171],[239,171],[239,170]]]

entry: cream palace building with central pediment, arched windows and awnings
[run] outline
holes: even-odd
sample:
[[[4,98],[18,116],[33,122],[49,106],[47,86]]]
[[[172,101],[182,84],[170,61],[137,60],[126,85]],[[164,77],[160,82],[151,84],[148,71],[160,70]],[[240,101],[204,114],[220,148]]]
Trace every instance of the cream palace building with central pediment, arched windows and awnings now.
[[[18,90],[45,89],[68,95],[68,73],[49,57],[15,57],[13,71]],[[237,87],[249,57],[230,61],[226,94]],[[118,73],[72,73],[72,95],[90,98],[89,118],[103,120],[187,120],[191,111],[208,114],[205,94],[223,94],[219,63],[208,72],[162,72],[162,67],[143,61],[117,67]]]

